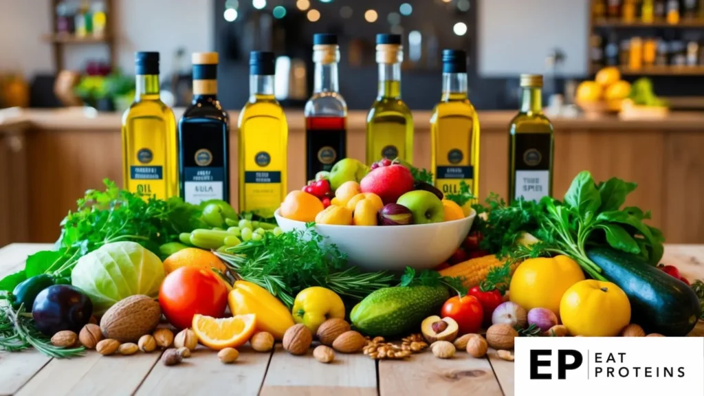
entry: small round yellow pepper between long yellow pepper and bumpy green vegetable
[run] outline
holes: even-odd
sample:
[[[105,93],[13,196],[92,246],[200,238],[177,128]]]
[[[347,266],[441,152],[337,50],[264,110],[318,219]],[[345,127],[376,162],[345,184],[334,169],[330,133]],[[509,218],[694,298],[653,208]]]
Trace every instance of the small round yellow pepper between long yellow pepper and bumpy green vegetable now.
[[[303,323],[315,334],[327,319],[344,319],[345,304],[332,290],[313,286],[298,293],[291,312],[296,323]]]

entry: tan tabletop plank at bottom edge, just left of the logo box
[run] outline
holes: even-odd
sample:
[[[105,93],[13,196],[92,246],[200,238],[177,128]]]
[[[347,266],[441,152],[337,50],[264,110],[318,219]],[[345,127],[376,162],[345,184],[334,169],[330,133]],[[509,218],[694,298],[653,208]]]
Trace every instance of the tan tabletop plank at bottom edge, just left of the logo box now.
[[[501,387],[486,359],[457,352],[453,359],[438,359],[426,350],[406,361],[379,361],[379,394],[396,395],[501,395]]]

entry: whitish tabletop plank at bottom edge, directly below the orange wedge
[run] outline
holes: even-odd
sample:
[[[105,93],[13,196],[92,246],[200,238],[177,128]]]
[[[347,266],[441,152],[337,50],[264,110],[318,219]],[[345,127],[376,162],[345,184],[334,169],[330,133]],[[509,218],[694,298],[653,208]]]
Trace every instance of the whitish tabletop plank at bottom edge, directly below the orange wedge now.
[[[178,366],[158,362],[137,391],[137,396],[156,395],[256,395],[261,388],[271,353],[254,352],[249,345],[238,348],[234,364],[222,364],[215,352],[199,346]]]

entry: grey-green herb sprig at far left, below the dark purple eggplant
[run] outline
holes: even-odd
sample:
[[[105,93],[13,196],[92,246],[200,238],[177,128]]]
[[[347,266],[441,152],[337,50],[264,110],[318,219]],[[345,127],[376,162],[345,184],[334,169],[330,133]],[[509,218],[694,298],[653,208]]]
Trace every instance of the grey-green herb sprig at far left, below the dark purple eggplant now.
[[[24,307],[15,311],[9,304],[0,304],[0,350],[20,352],[29,347],[57,359],[80,357],[85,352],[84,347],[54,346],[49,338],[34,328],[34,321],[25,314]]]

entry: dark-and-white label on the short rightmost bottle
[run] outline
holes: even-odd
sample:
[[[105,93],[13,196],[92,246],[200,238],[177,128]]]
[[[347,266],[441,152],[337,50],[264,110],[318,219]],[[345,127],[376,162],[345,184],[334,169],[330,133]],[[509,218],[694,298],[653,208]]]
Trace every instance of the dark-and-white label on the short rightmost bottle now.
[[[551,145],[548,133],[515,135],[515,198],[538,202],[551,194]]]

